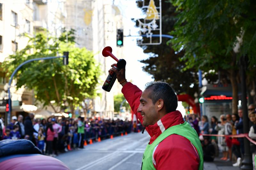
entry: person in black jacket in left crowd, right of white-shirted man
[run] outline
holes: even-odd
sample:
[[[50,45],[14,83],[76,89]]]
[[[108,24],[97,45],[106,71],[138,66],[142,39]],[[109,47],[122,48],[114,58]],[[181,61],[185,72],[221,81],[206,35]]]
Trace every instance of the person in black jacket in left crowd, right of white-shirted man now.
[[[29,136],[29,140],[32,141],[36,145],[35,138],[33,136],[33,132],[37,131],[33,127],[32,120],[34,119],[35,115],[33,113],[28,114],[28,116],[25,118],[24,126],[25,126],[25,135]]]

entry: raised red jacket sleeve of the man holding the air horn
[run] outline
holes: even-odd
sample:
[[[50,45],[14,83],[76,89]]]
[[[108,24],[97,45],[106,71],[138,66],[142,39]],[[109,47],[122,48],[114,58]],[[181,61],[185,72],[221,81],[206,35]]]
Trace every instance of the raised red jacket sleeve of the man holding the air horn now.
[[[131,82],[126,83],[122,88],[122,93],[124,94],[125,99],[129,103],[133,113],[137,116],[140,122],[143,122],[142,116],[137,112],[138,107],[140,106],[140,97],[142,91],[136,85],[133,85]],[[146,127],[148,134],[152,137],[152,132],[150,128]]]

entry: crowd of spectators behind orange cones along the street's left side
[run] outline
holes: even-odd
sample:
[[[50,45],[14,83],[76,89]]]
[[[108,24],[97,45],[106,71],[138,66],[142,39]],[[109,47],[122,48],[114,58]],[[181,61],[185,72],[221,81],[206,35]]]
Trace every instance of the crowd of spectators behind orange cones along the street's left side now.
[[[29,114],[25,121],[23,116],[12,116],[10,124],[4,127],[0,119],[0,140],[28,139],[32,141],[43,154],[56,156],[59,152],[84,148],[85,143],[95,142],[122,133],[131,133],[142,129],[137,122],[123,120],[87,119],[84,117],[64,118],[49,117],[34,119]]]

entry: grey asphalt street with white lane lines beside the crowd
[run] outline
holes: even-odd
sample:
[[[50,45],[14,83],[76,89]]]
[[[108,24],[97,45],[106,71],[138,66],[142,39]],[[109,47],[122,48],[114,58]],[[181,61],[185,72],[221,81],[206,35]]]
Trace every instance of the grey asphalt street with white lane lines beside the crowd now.
[[[145,131],[88,144],[85,149],[62,153],[56,158],[71,170],[140,170],[149,142]]]

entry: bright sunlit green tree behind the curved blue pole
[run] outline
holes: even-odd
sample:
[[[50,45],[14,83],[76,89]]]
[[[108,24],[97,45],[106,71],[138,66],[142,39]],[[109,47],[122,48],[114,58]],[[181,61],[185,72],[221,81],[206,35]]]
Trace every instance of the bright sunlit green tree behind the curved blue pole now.
[[[29,38],[28,45],[7,57],[3,63],[8,70],[7,76],[26,60],[47,56],[63,55],[69,51],[69,64],[63,65],[62,58],[34,61],[25,64],[15,75],[17,88],[25,85],[34,89],[37,101],[50,105],[56,113],[64,103],[68,102],[70,110],[80,105],[87,97],[96,94],[95,88],[100,73],[99,65],[95,62],[92,52],[85,48],[76,48],[72,34],[68,32],[68,42],[64,39],[66,32],[60,38],[46,37],[45,32],[37,33],[35,38]],[[32,51],[32,53],[30,53]],[[50,101],[55,100],[55,103]]]

